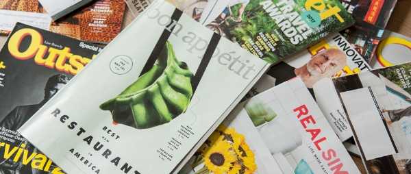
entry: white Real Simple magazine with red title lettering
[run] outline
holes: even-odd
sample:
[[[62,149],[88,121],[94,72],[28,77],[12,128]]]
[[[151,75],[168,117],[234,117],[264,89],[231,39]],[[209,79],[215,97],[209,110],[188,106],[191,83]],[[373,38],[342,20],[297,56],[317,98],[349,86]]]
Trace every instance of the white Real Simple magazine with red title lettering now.
[[[280,165],[283,168],[290,166],[294,173],[360,173],[300,78],[246,102],[246,113],[271,155],[278,163],[288,163]]]

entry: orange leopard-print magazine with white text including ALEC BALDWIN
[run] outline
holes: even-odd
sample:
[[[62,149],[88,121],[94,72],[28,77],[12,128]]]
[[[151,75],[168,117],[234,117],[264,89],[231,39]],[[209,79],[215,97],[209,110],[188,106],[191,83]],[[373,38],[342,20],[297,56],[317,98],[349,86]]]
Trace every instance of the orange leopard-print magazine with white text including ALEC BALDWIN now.
[[[8,35],[16,22],[50,30],[71,38],[106,44],[121,32],[125,13],[123,0],[97,0],[51,22],[38,0],[0,2],[0,34]],[[22,10],[22,11],[19,11]]]

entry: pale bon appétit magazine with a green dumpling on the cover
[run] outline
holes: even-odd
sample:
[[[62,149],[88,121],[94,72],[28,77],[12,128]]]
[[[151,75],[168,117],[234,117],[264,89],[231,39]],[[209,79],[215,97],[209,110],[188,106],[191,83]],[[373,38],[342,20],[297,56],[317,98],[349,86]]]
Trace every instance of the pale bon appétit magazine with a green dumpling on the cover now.
[[[19,129],[67,173],[171,173],[269,67],[165,1],[98,57]]]

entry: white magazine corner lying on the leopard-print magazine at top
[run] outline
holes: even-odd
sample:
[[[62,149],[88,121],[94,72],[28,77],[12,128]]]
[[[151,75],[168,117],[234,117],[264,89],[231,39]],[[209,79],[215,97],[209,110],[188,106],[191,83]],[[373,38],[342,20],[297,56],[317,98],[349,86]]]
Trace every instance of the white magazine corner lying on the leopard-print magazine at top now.
[[[53,21],[58,20],[62,16],[87,5],[93,0],[38,0],[47,11],[47,14],[53,18]]]

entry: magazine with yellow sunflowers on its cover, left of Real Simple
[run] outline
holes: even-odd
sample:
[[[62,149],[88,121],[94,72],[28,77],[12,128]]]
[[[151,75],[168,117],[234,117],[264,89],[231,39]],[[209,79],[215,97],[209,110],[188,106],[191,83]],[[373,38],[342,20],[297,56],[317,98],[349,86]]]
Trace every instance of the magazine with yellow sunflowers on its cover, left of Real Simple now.
[[[243,108],[236,106],[180,174],[283,173]]]

